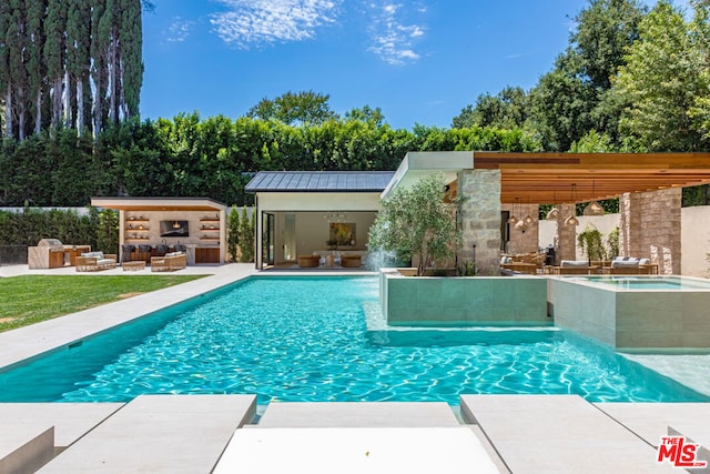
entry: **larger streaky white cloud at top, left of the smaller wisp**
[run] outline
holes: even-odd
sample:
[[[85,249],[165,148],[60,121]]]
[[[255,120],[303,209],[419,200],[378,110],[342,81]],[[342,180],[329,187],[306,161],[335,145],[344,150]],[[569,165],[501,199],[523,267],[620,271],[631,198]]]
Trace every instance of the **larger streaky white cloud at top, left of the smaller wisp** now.
[[[220,38],[248,49],[265,43],[315,37],[318,27],[335,22],[341,0],[217,0],[227,11],[210,22]]]

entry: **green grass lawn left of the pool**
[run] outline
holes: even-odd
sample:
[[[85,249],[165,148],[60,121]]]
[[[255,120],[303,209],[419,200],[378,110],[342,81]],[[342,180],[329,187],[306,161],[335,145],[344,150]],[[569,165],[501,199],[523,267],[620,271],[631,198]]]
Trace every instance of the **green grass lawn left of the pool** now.
[[[26,275],[0,279],[0,332],[204,275]]]

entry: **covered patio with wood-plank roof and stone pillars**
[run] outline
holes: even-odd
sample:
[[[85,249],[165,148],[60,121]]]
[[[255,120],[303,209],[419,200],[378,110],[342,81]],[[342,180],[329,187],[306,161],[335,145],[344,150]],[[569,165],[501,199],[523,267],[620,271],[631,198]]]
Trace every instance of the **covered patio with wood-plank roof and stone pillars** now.
[[[710,182],[710,153],[410,152],[383,193],[442,173],[462,195],[459,261],[480,274],[498,273],[510,233],[504,212],[531,215],[537,250],[538,204],[558,204],[558,259],[575,259],[576,228],[565,225],[581,202],[620,198],[620,252],[651,259],[661,273],[680,269],[681,189]]]

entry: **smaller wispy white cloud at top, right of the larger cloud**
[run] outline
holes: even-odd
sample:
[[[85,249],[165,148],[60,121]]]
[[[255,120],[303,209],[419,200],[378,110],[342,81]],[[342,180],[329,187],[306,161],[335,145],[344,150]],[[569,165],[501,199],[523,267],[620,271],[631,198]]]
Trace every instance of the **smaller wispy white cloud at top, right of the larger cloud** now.
[[[382,1],[372,3],[372,41],[369,51],[389,64],[400,65],[416,62],[420,54],[415,51],[415,42],[424,36],[425,28],[419,24],[405,24],[408,10],[425,13],[422,7],[405,6]]]

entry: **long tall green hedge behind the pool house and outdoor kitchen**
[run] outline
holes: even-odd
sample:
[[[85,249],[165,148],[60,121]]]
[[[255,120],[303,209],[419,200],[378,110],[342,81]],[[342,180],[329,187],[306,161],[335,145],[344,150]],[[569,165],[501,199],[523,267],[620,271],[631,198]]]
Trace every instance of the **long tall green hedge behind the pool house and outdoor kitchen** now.
[[[207,196],[251,205],[244,185],[262,170],[395,170],[408,151],[538,151],[523,130],[417,125],[412,132],[358,120],[292,127],[223,115],[130,120],[94,143],[54,129],[0,145],[0,206],[83,206],[91,196]]]

